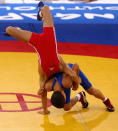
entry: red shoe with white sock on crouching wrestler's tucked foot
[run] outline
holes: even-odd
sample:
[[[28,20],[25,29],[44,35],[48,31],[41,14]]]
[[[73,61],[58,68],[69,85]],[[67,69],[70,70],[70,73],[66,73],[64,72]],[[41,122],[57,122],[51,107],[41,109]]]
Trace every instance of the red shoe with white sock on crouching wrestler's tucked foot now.
[[[81,104],[82,104],[82,108],[87,108],[88,107],[88,102],[87,102],[87,100],[86,100],[86,94],[85,94],[85,92],[84,91],[81,91],[80,93],[80,96],[81,96],[81,98],[80,98],[80,102],[81,102]]]

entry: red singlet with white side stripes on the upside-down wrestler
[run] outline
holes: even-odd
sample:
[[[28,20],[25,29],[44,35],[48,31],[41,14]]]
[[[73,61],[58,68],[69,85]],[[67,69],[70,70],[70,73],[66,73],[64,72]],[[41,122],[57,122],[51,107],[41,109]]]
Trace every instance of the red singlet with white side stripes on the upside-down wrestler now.
[[[39,55],[39,62],[46,76],[59,72],[59,58],[54,27],[43,27],[43,33],[32,33],[30,44]]]

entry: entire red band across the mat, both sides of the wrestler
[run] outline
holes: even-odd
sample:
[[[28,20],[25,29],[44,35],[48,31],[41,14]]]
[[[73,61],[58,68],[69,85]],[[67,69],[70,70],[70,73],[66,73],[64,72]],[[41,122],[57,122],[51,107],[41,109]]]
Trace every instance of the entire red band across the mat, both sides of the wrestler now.
[[[0,41],[0,52],[35,52],[35,50],[25,42],[21,41]],[[118,59],[118,46],[80,44],[80,43],[58,43],[60,54],[97,56]]]

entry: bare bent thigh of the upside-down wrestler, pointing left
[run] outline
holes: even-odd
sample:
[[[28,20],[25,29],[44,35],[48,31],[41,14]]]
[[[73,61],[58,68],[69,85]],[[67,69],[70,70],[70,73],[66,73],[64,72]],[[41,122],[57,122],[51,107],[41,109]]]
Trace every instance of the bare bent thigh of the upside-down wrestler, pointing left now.
[[[22,30],[16,27],[9,26],[6,28],[6,33],[10,36],[24,42],[29,42],[32,32]]]

